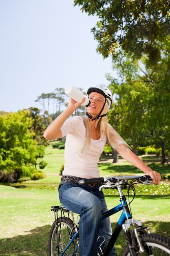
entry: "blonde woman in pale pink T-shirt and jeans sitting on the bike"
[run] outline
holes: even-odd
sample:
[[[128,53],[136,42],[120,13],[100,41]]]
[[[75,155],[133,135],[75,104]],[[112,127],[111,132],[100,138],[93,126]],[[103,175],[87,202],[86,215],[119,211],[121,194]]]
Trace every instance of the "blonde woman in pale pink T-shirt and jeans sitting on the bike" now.
[[[113,100],[110,90],[96,85],[89,88],[87,94],[91,104],[86,107],[86,115],[70,117],[85,100],[76,102],[70,98],[67,108],[49,125],[44,137],[51,140],[67,135],[59,198],[64,207],[80,216],[79,255],[97,256],[98,246],[112,234],[109,218],[100,221],[107,210],[106,202],[98,184],[80,186],[78,180],[99,177],[97,162],[106,142],[121,157],[150,175],[154,184],[159,184],[161,176],[132,153],[124,139],[108,124],[106,114]],[[117,256],[115,247],[110,256]]]

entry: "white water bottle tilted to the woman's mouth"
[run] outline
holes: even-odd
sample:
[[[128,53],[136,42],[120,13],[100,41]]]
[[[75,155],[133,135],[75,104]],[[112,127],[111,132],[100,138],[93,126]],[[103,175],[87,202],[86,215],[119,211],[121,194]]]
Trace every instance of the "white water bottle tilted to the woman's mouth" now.
[[[73,85],[71,84],[67,85],[64,92],[77,102],[81,101],[84,97],[86,97],[85,101],[81,105],[86,107],[90,106],[91,102],[89,101],[88,97]]]

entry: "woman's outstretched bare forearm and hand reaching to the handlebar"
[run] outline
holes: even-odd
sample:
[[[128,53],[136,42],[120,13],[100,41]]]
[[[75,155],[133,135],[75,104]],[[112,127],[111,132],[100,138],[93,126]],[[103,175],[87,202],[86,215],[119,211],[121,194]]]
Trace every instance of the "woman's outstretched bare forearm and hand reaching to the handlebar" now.
[[[156,171],[152,171],[152,169],[147,166],[137,155],[135,155],[130,148],[126,147],[125,145],[122,145],[122,149],[116,149],[119,155],[123,157],[126,161],[130,162],[130,164],[137,167],[139,170],[143,171],[146,175],[149,175],[152,180],[153,184],[159,184],[161,180],[160,173],[157,173]]]

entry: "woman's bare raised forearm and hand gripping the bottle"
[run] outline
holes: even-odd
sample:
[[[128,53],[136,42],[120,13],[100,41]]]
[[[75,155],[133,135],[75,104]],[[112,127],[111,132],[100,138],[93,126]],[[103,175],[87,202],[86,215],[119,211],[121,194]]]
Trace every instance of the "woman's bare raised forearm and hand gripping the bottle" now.
[[[46,128],[44,132],[45,139],[58,139],[62,137],[61,127],[66,119],[85,101],[83,98],[77,102],[73,99],[69,99],[67,108]]]

